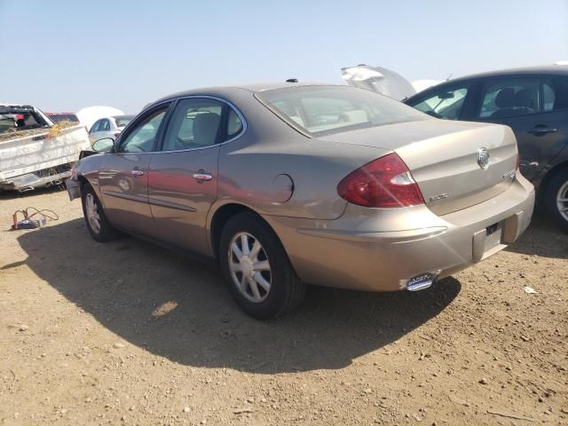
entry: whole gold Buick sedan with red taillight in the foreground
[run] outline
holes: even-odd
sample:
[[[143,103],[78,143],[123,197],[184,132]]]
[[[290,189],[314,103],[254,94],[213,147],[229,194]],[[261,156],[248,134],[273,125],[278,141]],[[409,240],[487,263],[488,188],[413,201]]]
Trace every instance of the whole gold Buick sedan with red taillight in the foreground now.
[[[92,237],[214,257],[258,319],[296,307],[307,284],[428,288],[516,241],[533,214],[509,127],[349,86],[177,93],[93,148],[67,181]]]

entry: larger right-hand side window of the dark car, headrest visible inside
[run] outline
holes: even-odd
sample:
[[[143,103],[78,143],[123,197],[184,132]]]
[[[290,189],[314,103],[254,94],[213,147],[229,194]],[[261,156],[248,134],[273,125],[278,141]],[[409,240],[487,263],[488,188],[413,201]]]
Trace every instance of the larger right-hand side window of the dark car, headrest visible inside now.
[[[552,83],[534,77],[493,80],[481,93],[479,118],[499,118],[551,111],[555,104]]]

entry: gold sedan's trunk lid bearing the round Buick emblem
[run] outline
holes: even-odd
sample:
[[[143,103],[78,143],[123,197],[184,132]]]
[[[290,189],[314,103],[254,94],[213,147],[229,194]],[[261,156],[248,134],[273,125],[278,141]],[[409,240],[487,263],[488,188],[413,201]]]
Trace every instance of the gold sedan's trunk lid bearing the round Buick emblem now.
[[[505,191],[515,177],[517,143],[505,126],[432,119],[352,130],[323,139],[397,153],[419,185],[426,205],[438,215],[489,200]]]

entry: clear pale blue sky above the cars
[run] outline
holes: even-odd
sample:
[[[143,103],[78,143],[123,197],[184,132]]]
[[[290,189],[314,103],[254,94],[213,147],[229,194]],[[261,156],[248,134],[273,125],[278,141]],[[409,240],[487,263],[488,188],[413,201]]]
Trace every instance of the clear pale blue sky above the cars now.
[[[568,0],[0,0],[0,103],[135,114],[197,87],[445,80],[568,60]]]

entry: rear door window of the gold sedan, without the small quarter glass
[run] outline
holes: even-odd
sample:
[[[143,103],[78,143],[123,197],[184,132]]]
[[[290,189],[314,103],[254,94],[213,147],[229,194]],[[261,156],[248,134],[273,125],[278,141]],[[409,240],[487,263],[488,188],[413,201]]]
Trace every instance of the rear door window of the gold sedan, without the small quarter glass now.
[[[162,151],[203,148],[219,143],[223,106],[215,99],[180,100],[171,115]]]

